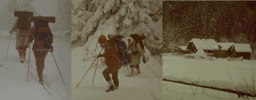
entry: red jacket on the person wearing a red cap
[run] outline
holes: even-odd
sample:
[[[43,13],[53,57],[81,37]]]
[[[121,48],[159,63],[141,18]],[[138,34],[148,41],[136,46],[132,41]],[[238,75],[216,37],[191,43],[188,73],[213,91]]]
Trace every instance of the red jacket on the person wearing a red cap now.
[[[116,50],[116,47],[113,45],[113,43],[108,40],[108,46],[110,47],[110,49],[105,50],[105,53],[102,54],[102,57],[105,57],[105,64],[107,66],[112,66],[112,65],[116,65],[116,64],[122,64],[121,60],[118,56],[118,52]],[[118,58],[118,59],[117,59]]]

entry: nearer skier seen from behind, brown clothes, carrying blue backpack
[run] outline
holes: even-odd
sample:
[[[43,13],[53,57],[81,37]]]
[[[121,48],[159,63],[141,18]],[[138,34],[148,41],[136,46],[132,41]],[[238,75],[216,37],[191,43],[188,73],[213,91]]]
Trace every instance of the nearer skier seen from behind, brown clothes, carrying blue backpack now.
[[[44,17],[42,16],[33,16],[33,18],[30,17],[30,20],[35,19],[36,21],[34,22],[34,26],[30,29],[30,33],[28,36],[29,43],[31,43],[35,39],[32,50],[36,59],[39,83],[41,84],[43,84],[45,57],[47,56],[49,51],[53,52],[53,47],[51,46],[51,44],[53,43],[53,33],[51,32],[51,29],[48,25],[48,20],[51,20],[51,18],[48,18],[48,20],[41,20],[43,18]]]

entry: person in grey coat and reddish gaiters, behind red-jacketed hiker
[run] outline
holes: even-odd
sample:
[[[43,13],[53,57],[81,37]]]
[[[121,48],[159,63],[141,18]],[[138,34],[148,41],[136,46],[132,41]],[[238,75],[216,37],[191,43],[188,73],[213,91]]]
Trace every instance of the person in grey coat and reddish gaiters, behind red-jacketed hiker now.
[[[142,42],[143,43],[143,42]],[[144,46],[144,44],[143,44]],[[126,52],[131,51],[132,54],[132,62],[130,63],[130,68],[131,68],[131,74],[129,74],[129,77],[134,76],[134,69],[136,68],[138,74],[140,73],[140,57],[142,57],[142,61],[145,64],[146,63],[146,58],[144,56],[144,50],[142,49],[140,43],[138,40],[134,40],[132,37],[128,38],[128,48],[126,49]]]

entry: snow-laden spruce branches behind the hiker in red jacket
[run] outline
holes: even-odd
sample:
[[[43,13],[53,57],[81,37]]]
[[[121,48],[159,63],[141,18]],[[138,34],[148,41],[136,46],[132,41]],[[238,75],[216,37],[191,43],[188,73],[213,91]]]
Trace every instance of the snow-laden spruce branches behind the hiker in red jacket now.
[[[99,52],[99,36],[122,34],[125,42],[130,34],[146,35],[146,53],[160,55],[162,32],[154,27],[162,14],[161,0],[92,0],[72,5],[72,42],[84,41],[85,59]],[[159,27],[161,28],[161,27]],[[127,44],[127,43],[126,43]],[[149,53],[150,51],[150,53]],[[92,54],[92,55],[91,55]]]

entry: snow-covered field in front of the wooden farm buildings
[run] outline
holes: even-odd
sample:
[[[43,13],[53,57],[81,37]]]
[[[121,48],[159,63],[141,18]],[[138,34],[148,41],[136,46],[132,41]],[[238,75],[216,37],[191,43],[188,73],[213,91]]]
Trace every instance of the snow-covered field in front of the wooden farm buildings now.
[[[169,68],[170,70],[168,70]],[[224,58],[215,58],[214,61],[210,61],[208,59],[185,59],[184,56],[163,56],[163,72],[168,70],[163,74],[163,78],[188,83],[193,82],[204,86],[234,89],[234,86],[228,77],[228,71],[230,72],[230,76],[235,85],[238,85],[240,82],[244,84],[245,82],[239,68],[248,84],[252,85],[253,82],[250,76],[253,76],[253,72],[254,76],[256,76],[256,61],[254,60],[228,61]],[[165,83],[165,81],[163,81],[163,83]],[[167,86],[171,86],[171,88],[170,90],[165,90],[165,87],[163,88],[163,100],[169,100],[168,98],[174,98],[172,100],[218,100],[218,98],[222,98],[223,100],[230,100],[231,98],[236,98],[234,100],[242,99],[238,98],[236,94],[231,94],[230,96],[228,92],[211,89],[207,89],[207,93],[202,94],[203,88],[197,88],[195,86],[192,86],[192,88],[194,92],[197,88],[197,94],[193,96],[192,89],[188,85],[168,82]]]

